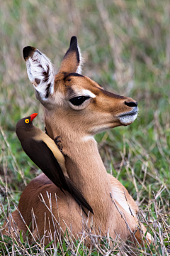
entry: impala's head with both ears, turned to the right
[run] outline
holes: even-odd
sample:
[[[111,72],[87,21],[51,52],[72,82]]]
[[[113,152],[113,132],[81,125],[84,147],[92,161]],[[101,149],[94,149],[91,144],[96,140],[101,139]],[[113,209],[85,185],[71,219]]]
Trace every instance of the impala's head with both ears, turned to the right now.
[[[81,54],[75,36],[57,75],[40,50],[27,46],[23,57],[36,97],[45,106],[47,129],[55,129],[62,122],[74,132],[94,135],[136,119],[135,100],[103,90],[97,82],[80,74]]]

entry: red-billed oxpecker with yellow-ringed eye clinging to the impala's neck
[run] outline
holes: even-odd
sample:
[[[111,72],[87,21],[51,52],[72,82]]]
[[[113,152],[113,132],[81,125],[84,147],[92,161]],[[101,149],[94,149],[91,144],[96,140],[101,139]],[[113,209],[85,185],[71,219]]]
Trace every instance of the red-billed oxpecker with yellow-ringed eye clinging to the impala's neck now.
[[[25,117],[16,124],[16,134],[23,150],[63,193],[68,191],[82,210],[85,207],[93,213],[91,206],[86,202],[79,189],[64,175],[66,168],[60,149],[45,132],[33,125],[33,119],[36,116],[37,113],[31,114],[30,117]],[[84,211],[84,213],[86,212]]]

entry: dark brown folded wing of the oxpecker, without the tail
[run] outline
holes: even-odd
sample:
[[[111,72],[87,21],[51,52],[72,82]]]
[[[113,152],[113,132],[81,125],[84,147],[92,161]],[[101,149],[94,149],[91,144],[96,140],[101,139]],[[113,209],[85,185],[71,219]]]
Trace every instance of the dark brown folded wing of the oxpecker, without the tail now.
[[[69,191],[69,186],[67,185],[60,164],[45,142],[29,138],[21,144],[30,159],[57,187]]]

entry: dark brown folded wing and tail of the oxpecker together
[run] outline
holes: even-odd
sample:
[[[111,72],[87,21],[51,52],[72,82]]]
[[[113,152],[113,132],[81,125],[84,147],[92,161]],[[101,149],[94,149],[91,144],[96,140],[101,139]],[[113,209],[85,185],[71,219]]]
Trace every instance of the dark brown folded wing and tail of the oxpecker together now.
[[[55,183],[57,187],[59,187],[61,190],[64,189],[65,191],[68,191],[73,196],[74,200],[77,201],[79,206],[81,206],[82,210],[84,210],[84,206],[90,210],[91,213],[94,213],[81,191],[79,191],[79,189],[69,178],[67,178],[67,176],[64,176],[60,164],[45,142],[42,140],[38,141],[28,138],[21,144],[23,146],[23,150],[30,157],[30,159],[48,178],[50,178],[53,183]],[[63,190],[62,192],[64,193]],[[84,211],[84,213],[86,212]]]

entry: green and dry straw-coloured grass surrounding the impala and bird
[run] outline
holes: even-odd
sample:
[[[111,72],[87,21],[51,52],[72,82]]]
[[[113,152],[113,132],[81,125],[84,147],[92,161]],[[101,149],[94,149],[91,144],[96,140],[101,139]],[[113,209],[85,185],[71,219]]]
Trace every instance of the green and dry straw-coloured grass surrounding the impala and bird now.
[[[128,189],[142,210],[154,245],[140,255],[168,255],[170,199],[170,3],[168,0],[52,0],[1,2],[0,9],[0,225],[9,206],[14,210],[26,184],[40,170],[21,150],[15,134],[18,119],[43,108],[35,99],[22,57],[35,46],[54,63],[56,73],[77,36],[83,74],[106,90],[137,100],[140,114],[129,127],[98,134],[96,140],[108,172]],[[100,240],[100,239],[99,239]],[[101,255],[109,253],[102,238],[94,249],[67,238],[58,248],[0,241],[1,255]],[[102,244],[103,242],[103,244]],[[72,243],[71,243],[72,244]],[[103,246],[104,245],[104,246]],[[79,248],[78,248],[79,246]],[[98,249],[101,247],[101,250]],[[78,248],[78,249],[77,249]],[[74,253],[73,253],[74,251]],[[78,253],[79,252],[79,253]],[[112,250],[111,255],[116,254]],[[124,252],[123,252],[124,253]],[[108,254],[109,255],[109,254]]]

